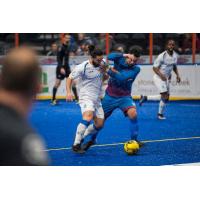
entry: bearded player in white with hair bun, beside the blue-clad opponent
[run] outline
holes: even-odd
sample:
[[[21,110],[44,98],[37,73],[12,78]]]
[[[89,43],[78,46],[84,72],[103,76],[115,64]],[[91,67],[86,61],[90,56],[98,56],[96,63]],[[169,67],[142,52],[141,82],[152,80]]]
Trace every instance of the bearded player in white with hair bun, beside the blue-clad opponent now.
[[[84,133],[90,122],[94,120],[95,129],[102,127],[104,112],[101,105],[101,90],[105,78],[103,65],[103,52],[100,49],[89,48],[90,59],[77,65],[67,79],[67,101],[73,100],[71,87],[73,80],[78,79],[79,105],[82,112],[82,120],[77,126],[76,136],[72,150],[84,153],[81,149]]]

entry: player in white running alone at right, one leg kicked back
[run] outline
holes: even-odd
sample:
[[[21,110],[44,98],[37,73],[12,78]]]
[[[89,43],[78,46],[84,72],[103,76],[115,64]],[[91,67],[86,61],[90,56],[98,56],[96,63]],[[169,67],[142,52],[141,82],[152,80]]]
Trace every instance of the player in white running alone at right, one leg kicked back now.
[[[158,119],[161,120],[166,119],[163,113],[165,105],[169,100],[169,95],[170,95],[169,86],[170,86],[172,71],[174,71],[176,74],[177,83],[180,83],[181,81],[177,68],[178,55],[174,51],[174,48],[175,48],[175,41],[168,40],[166,51],[159,54],[153,64],[153,71],[155,73],[153,81],[157,89],[159,90],[160,95],[153,95],[153,96],[141,95],[141,99],[139,102],[139,105],[142,106],[142,104],[147,100],[160,100],[158,109]]]

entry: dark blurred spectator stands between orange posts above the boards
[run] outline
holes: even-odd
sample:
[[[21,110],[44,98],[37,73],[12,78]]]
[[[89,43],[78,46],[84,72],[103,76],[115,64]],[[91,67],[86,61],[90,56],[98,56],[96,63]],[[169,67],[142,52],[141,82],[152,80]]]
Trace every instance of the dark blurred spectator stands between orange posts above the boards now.
[[[106,50],[105,33],[72,33],[70,41],[71,56],[88,55],[87,46],[93,44]],[[176,51],[180,55],[192,54],[191,33],[154,33],[153,54],[157,55],[165,49],[168,39],[176,41]],[[40,55],[55,56],[61,43],[59,33],[20,33],[19,43],[31,45]],[[0,34],[0,55],[15,45],[15,34]],[[149,54],[149,33],[110,33],[109,50],[126,52],[133,46],[142,51],[143,55]],[[104,52],[105,53],[105,52]],[[200,34],[196,34],[196,53],[200,53]]]

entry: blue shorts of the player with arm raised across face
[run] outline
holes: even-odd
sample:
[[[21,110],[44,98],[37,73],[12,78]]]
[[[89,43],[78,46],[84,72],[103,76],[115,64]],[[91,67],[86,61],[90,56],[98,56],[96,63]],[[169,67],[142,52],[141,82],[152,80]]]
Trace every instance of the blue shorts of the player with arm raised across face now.
[[[132,97],[112,97],[106,94],[102,100],[102,107],[105,118],[107,118],[116,108],[119,108],[127,116],[128,109],[135,108],[136,105]]]

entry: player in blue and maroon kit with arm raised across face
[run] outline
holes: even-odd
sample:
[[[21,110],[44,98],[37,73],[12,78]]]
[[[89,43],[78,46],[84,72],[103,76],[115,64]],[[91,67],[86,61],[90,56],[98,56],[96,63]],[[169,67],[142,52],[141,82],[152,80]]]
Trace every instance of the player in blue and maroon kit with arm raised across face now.
[[[105,69],[110,79],[102,101],[105,119],[117,108],[129,118],[130,138],[136,141],[138,141],[137,111],[131,96],[131,88],[140,72],[140,67],[136,65],[139,57],[140,52],[137,49],[132,49],[129,54],[111,53],[108,55],[108,60],[114,62],[114,67]],[[88,137],[89,141],[82,146],[85,151],[96,143],[96,137],[101,128],[95,127],[94,124],[87,128],[84,138]],[[141,142],[138,141],[138,143],[142,145]]]

